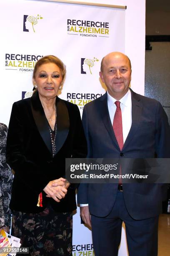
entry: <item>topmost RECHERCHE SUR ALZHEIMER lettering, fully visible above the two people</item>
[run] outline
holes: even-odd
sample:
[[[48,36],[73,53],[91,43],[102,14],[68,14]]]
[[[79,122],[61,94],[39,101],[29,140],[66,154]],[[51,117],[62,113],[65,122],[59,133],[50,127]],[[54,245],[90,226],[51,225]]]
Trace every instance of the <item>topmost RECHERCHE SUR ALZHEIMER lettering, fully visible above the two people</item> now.
[[[67,19],[67,34],[109,37],[109,22]]]

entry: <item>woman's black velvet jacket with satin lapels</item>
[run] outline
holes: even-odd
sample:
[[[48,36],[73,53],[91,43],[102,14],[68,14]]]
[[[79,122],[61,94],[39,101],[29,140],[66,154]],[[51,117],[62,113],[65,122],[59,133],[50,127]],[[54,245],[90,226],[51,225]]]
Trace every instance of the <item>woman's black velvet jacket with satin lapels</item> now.
[[[15,171],[10,209],[40,212],[50,202],[58,212],[75,210],[75,187],[71,184],[60,202],[43,192],[48,182],[65,177],[65,158],[85,157],[87,143],[76,105],[56,98],[56,154],[52,157],[50,130],[39,95],[13,104],[7,134],[6,158]],[[42,205],[37,207],[42,192]]]

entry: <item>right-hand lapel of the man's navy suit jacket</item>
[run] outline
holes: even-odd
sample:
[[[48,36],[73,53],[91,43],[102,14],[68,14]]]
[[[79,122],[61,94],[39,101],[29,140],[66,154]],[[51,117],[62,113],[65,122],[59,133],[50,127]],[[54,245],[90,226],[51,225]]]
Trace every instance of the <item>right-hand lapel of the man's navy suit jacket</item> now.
[[[142,108],[143,108],[143,104],[142,104],[138,94],[133,92],[133,90],[131,90],[131,89],[130,89],[130,91],[131,91],[131,98],[132,98],[132,125],[131,125],[130,131],[128,133],[128,136],[126,138],[126,141],[123,145],[122,151],[128,146],[128,144],[132,140],[134,134],[136,133],[136,130],[137,130],[139,122],[140,122]]]

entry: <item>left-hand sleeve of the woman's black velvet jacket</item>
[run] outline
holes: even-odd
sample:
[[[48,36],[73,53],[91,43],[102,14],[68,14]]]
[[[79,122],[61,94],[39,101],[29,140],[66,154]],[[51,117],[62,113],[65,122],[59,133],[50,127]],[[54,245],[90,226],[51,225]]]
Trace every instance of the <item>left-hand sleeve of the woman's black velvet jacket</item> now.
[[[25,156],[23,123],[23,113],[21,113],[20,107],[15,102],[7,133],[6,160],[14,170],[15,176],[26,187],[30,187],[33,191],[40,193],[47,185],[48,179],[42,174],[40,166],[28,160],[27,156]]]

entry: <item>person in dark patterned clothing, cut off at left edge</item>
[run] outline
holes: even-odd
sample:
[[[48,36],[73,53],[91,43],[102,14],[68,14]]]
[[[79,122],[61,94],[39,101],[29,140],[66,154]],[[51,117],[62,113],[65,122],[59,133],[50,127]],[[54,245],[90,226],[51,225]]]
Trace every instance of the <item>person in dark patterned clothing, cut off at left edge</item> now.
[[[9,204],[13,174],[5,159],[6,140],[7,126],[0,123],[0,229],[9,233],[11,223]]]

